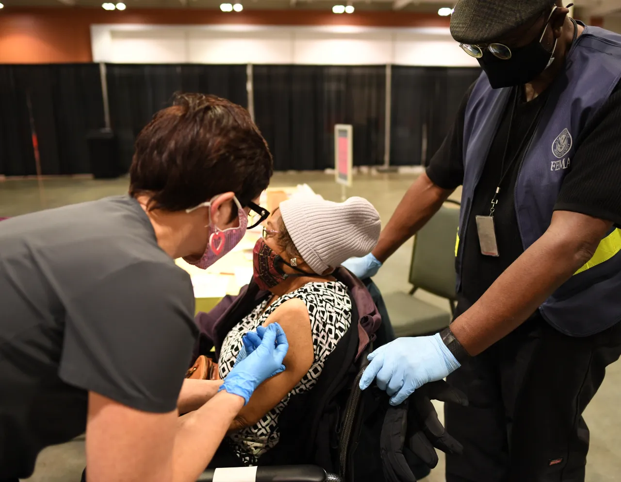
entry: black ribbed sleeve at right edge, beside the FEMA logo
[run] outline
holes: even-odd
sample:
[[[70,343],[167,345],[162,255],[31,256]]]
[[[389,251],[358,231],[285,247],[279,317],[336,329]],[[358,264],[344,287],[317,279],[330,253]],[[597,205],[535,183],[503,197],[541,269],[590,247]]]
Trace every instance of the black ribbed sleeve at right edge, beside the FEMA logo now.
[[[574,211],[621,226],[621,84],[578,138],[555,210]]]

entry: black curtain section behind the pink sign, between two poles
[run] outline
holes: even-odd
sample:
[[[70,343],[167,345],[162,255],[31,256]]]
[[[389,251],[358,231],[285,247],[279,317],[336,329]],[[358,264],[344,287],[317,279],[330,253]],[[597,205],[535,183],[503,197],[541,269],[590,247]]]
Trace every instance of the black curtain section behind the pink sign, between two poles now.
[[[353,126],[355,165],[382,164],[386,68],[254,65],[255,120],[276,170],[334,167],[334,125]]]

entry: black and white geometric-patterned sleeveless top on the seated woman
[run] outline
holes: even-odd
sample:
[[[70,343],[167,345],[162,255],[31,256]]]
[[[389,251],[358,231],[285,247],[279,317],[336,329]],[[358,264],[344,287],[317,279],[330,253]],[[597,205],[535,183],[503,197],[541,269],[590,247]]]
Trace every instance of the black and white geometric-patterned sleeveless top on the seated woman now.
[[[252,313],[229,331],[222,343],[218,366],[224,379],[233,368],[242,348],[242,336],[254,330],[281,304],[292,298],[301,299],[309,311],[312,342],[315,356],[311,369],[276,407],[271,409],[256,425],[229,435],[227,442],[246,465],[253,465],[261,455],[278,443],[278,417],[292,396],[314,386],[324,368],[325,359],[337,346],[338,340],[351,324],[351,300],[345,285],[338,281],[307,283],[292,293],[281,296],[265,309],[268,300],[258,305]],[[265,312],[263,312],[265,310]]]

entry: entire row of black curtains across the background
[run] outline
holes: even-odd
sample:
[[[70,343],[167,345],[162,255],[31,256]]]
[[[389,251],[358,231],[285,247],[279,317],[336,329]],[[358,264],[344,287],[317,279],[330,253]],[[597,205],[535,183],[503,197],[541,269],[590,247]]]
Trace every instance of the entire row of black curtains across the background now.
[[[427,164],[479,73],[479,68],[392,67],[392,165]],[[383,163],[384,66],[255,65],[253,81],[256,123],[276,170],[333,167],[337,123],[353,125],[355,165]],[[124,170],[135,136],[170,105],[175,92],[248,103],[246,65],[108,64],[107,82]],[[86,138],[104,127],[99,65],[0,65],[0,174],[36,174],[28,98],[42,173],[91,172]]]

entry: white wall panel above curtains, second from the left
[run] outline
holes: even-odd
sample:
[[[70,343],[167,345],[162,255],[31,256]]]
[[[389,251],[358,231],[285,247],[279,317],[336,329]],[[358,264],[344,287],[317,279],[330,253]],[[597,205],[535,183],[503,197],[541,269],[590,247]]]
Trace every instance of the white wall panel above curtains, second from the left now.
[[[188,61],[196,63],[293,63],[289,30],[230,32],[190,30]]]

